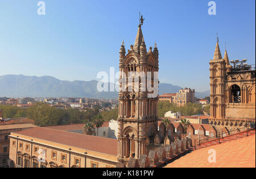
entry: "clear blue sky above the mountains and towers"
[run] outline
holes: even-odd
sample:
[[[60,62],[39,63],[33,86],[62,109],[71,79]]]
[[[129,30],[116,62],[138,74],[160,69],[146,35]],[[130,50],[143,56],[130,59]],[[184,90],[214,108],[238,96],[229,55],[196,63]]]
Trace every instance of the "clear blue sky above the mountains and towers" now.
[[[209,90],[209,60],[216,32],[224,56],[255,64],[255,1],[45,0],[0,1],[0,76],[24,74],[60,80],[94,80],[100,71],[118,70],[119,48],[134,44],[138,12],[147,49],[158,44],[159,80]]]

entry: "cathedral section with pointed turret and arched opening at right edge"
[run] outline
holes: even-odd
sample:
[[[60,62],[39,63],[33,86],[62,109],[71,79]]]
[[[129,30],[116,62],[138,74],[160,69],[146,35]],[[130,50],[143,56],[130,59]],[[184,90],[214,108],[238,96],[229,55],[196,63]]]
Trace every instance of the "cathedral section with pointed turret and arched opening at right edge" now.
[[[226,51],[222,58],[218,40],[209,64],[210,124],[255,125],[255,68],[246,64],[246,59],[229,61]]]

